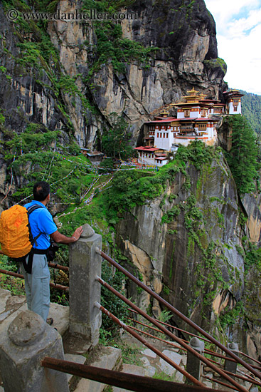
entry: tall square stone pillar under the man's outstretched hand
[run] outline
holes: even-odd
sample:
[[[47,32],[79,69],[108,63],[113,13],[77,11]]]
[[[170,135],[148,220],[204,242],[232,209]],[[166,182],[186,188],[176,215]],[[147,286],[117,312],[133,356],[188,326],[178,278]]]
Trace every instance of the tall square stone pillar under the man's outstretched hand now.
[[[95,234],[90,225],[82,226],[83,232],[77,242],[69,246],[70,263],[70,334],[85,339],[95,346],[99,341],[102,314],[95,307],[100,302],[102,258],[95,248],[102,249],[102,236]]]

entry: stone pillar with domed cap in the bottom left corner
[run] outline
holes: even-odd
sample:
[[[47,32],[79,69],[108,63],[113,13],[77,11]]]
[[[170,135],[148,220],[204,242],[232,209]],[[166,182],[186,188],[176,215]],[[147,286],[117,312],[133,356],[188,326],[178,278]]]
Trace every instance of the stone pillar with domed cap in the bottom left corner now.
[[[1,324],[0,372],[5,392],[69,392],[65,373],[41,366],[49,356],[64,359],[63,341],[53,327],[33,311],[21,311]]]

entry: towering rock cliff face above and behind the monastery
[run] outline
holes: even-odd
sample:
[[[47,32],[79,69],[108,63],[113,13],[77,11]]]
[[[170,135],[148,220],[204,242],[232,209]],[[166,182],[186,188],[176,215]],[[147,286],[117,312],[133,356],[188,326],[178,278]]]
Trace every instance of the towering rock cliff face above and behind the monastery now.
[[[81,7],[81,2],[60,0],[56,9],[62,14]],[[104,21],[95,26],[75,20],[48,21],[45,25],[22,18],[10,21],[6,12],[14,8],[36,11],[19,0],[0,4],[4,142],[13,131],[22,133],[28,123],[42,123],[49,130],[61,131],[61,143],[74,138],[82,147],[97,148],[100,134],[106,132],[108,115],[116,112],[129,121],[135,144],[150,113],[175,102],[192,86],[212,98],[223,91],[224,68],[216,61],[215,22],[203,0],[134,1],[129,9],[121,9],[138,16],[117,22],[121,39],[141,43],[140,48],[158,48],[144,63],[142,56],[132,56],[132,49],[126,55],[124,45],[119,46],[124,71],[116,71],[110,53],[100,49],[99,29],[102,31]],[[107,39],[117,45],[114,36]],[[106,55],[104,61],[102,55]],[[4,151],[0,154],[0,193],[4,195],[6,164]]]

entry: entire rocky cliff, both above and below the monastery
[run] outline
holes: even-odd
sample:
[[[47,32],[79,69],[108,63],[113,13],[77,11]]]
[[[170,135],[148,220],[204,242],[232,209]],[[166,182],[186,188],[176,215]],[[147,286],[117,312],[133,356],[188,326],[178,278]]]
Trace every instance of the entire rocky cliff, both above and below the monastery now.
[[[7,143],[30,124],[41,125],[46,133],[59,130],[61,145],[76,140],[94,149],[115,112],[129,122],[134,145],[144,121],[192,86],[222,99],[225,63],[218,58],[215,22],[203,0],[137,0],[127,8],[120,1],[33,3],[0,4],[1,199],[10,184],[14,191],[25,181],[25,172],[10,175],[11,160],[5,155]],[[137,19],[112,24],[6,17],[9,9],[28,13],[40,7],[68,14],[95,6],[105,9],[106,4],[113,11],[133,11]],[[260,304],[255,312],[252,303],[260,272],[245,269],[243,237],[259,241],[261,219],[257,198],[246,195],[242,202],[222,155],[201,168],[187,163],[160,197],[126,212],[117,227],[117,244],[144,282],[184,314],[218,336],[227,325],[227,335],[238,334],[243,346],[259,355]],[[132,285],[128,292],[159,314],[147,294],[137,296]],[[228,317],[237,317],[240,328],[228,323]]]

